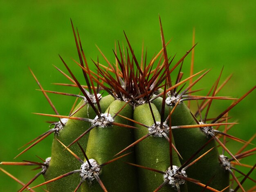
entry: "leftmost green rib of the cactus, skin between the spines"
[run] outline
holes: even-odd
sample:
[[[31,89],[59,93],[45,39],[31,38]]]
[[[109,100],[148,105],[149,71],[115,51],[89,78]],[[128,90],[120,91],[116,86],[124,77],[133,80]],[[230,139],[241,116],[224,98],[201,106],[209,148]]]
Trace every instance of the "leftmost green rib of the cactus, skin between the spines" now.
[[[112,98],[112,96],[110,95],[103,97],[100,100],[101,108],[103,110],[106,110],[106,108],[113,101],[113,99],[114,98]],[[79,105],[77,105],[76,109],[80,107],[83,103],[84,101],[82,100]],[[76,113],[76,116],[81,118],[94,118],[95,115],[96,114],[93,112],[92,108],[88,104],[86,104]],[[85,130],[89,127],[89,122],[69,119],[64,125],[63,129],[59,132],[59,134],[54,135],[55,138],[52,143],[51,161],[47,173],[44,174],[46,180],[53,179],[57,176],[80,168],[81,163],[79,163],[79,161],[77,161],[75,157],[72,156],[67,150],[63,150],[63,146],[58,141],[56,141],[56,138],[62,141],[65,145],[69,145],[72,141],[74,141],[74,139],[83,134],[83,132],[85,132]],[[81,146],[85,149],[87,147],[88,136],[89,135],[85,135],[83,138],[81,138],[80,141]],[[70,149],[78,156],[83,156],[83,153],[77,145],[71,146]],[[48,189],[50,191],[56,192],[61,192],[65,190],[72,191],[74,190],[74,185],[79,184],[79,180],[79,175],[74,174],[70,177],[58,180],[55,183],[49,183]]]

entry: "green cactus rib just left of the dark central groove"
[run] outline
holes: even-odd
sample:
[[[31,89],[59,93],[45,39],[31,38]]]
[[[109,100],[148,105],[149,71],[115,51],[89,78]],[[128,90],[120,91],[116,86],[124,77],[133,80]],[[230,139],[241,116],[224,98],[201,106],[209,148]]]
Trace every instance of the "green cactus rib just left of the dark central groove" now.
[[[109,115],[114,116],[125,104],[125,102],[119,100],[113,101],[108,108],[110,109]],[[105,114],[108,114],[108,109]],[[132,118],[132,107],[126,105],[120,114]],[[131,124],[119,116],[115,117],[114,122],[124,123],[126,125]],[[132,129],[116,125],[108,125],[106,127],[99,126],[90,132],[86,154],[89,159],[95,159],[99,164],[102,164],[113,159],[115,154],[129,145],[132,141]],[[134,153],[124,157],[122,160],[135,163]],[[107,189],[112,189],[112,191],[115,192],[137,191],[135,167],[130,167],[130,165],[127,165],[124,162],[116,161],[102,167],[101,180]],[[91,184],[85,182],[82,191],[97,192],[101,191],[101,187],[97,181],[94,181]]]

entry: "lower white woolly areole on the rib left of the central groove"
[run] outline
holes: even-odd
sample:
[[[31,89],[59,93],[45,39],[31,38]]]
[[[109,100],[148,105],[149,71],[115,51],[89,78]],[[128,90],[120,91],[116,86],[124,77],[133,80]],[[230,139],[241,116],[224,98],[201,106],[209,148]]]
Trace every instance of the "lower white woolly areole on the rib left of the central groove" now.
[[[94,180],[95,177],[93,173],[96,173],[97,175],[100,174],[101,168],[99,167],[99,164],[94,159],[89,159],[90,164],[92,167],[89,166],[88,162],[86,161],[81,165],[81,173],[80,176],[83,178],[84,176],[87,176],[87,179],[90,181]]]

